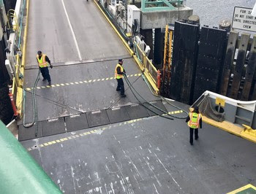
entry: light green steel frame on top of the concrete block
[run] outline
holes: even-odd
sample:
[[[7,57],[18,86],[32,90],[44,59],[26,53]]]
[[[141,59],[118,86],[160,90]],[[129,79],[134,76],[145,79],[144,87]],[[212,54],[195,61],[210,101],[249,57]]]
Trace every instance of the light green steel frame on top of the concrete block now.
[[[175,4],[175,6],[173,6]],[[154,12],[154,11],[170,11],[178,9],[183,4],[183,0],[141,0],[142,12]]]

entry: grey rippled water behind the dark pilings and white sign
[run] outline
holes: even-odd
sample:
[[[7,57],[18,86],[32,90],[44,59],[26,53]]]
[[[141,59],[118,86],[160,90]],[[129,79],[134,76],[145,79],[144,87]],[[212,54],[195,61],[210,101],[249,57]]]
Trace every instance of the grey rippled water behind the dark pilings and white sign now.
[[[224,19],[233,19],[234,7],[253,8],[255,0],[187,0],[187,7],[200,17],[200,24],[219,26]]]

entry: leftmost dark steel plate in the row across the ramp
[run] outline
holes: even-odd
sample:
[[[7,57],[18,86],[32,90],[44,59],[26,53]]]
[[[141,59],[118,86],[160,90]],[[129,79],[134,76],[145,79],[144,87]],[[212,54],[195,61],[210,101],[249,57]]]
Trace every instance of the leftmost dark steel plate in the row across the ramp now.
[[[23,125],[18,126],[18,139],[19,141],[24,141],[28,139],[35,139],[42,137],[42,122],[38,122],[38,129],[37,129],[37,137],[36,137],[36,125],[31,126],[31,128],[25,128]]]

